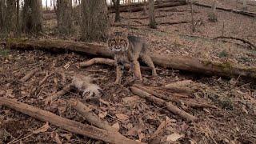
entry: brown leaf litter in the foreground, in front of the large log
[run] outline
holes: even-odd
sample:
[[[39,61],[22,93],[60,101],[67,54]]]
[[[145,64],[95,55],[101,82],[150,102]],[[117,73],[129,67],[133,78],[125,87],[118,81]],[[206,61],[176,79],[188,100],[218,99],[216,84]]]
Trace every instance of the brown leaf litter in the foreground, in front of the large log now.
[[[180,116],[170,113],[165,106],[159,107],[147,102],[144,98],[140,98],[140,96],[134,95],[127,82],[124,82],[123,86],[111,84],[114,82],[115,72],[109,66],[94,65],[85,69],[78,69],[77,63],[88,60],[80,55],[49,54],[38,50],[21,53],[17,50],[11,50],[0,60],[3,63],[0,70],[0,95],[2,97],[36,106],[62,118],[82,122],[82,125],[87,125],[87,118],[90,122],[90,116],[87,118],[82,116],[82,112],[79,111],[81,110],[80,105],[76,105],[77,100],[86,104],[86,111],[90,110],[89,115],[93,114],[94,117],[100,118],[102,121],[100,123],[102,124],[108,123],[105,128],[105,125],[103,125],[103,130],[113,128],[113,130],[118,130],[126,138],[133,140],[142,142],[154,140],[158,142],[160,138],[160,141],[165,142],[166,140],[170,142],[173,140],[188,142],[190,139],[194,139],[196,142],[222,142],[224,139],[222,135],[225,134],[225,138],[228,141],[244,142],[246,140],[247,142],[255,142],[254,138],[251,137],[251,135],[255,134],[254,114],[256,112],[254,111],[254,91],[250,89],[253,84],[247,84],[240,78],[232,81],[215,77],[197,80],[193,76],[184,78],[184,75],[180,75],[174,70],[166,69],[158,69],[160,76],[151,78],[150,72],[142,71],[145,85],[143,87],[151,90],[151,93],[152,91],[157,92],[157,94],[152,93],[151,95],[158,96],[158,98],[166,96],[165,98],[162,97],[165,102],[171,102],[178,109],[189,112],[199,118],[198,122],[190,123],[183,121]],[[19,81],[34,69],[38,69],[38,72],[26,82]],[[51,102],[50,105],[46,105],[44,99],[51,94],[58,93],[58,91],[70,84],[74,74],[94,75],[95,84],[102,88],[102,98],[98,102],[86,101],[82,94],[75,90],[70,90],[62,95],[61,98]],[[124,76],[126,78],[123,81],[130,81],[130,74],[125,74]],[[192,83],[187,81],[191,78],[194,79]],[[38,85],[40,82],[42,84]],[[189,88],[192,93],[180,94],[172,90],[168,91],[165,89],[165,86],[168,85],[184,86]],[[136,85],[134,87],[142,89],[142,87]],[[70,98],[75,98],[76,100],[72,101]],[[206,105],[192,105],[194,103]],[[208,107],[209,104],[213,107]],[[88,114],[86,111],[84,113]],[[22,110],[22,112],[24,111]],[[45,125],[45,122],[28,118],[28,116],[21,113],[15,113],[8,106],[2,106],[0,113],[2,114],[1,118],[4,118],[3,121],[0,118],[0,122],[2,122],[0,130],[6,135],[1,137],[3,142],[10,142],[15,139],[22,142],[52,142],[55,139],[59,139],[61,142],[96,141],[55,127],[50,121],[50,128],[46,130],[46,133],[33,134],[30,137],[26,137],[26,135],[31,134],[29,131],[31,128],[37,130]],[[238,115],[239,117],[237,117]],[[230,118],[233,120],[230,121]],[[162,129],[161,123],[163,122],[168,123],[165,129]],[[221,124],[219,122],[226,123]],[[17,126],[14,126],[13,123],[16,123]],[[88,124],[91,124],[91,122]],[[97,126],[98,124],[95,123],[93,125]],[[232,131],[234,130],[234,125],[239,131]],[[207,131],[205,131],[204,127],[208,127]],[[222,128],[225,129],[223,130]],[[244,130],[247,130],[246,134],[243,134]],[[20,131],[22,133],[19,133]],[[207,136],[208,133],[211,134],[212,138]],[[20,136],[21,134],[22,136]],[[242,134],[242,136],[238,136],[238,139],[234,140],[232,137],[234,134]],[[58,135],[58,137],[51,137],[50,135]],[[184,137],[185,135],[186,137]],[[20,140],[21,138],[23,139]]]

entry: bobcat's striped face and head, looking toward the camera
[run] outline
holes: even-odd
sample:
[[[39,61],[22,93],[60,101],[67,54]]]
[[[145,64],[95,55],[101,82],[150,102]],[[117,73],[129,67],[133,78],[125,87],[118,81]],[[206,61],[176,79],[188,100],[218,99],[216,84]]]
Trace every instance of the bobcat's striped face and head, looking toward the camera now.
[[[114,51],[114,53],[125,52],[129,47],[127,34],[123,32],[115,32],[113,35],[110,35],[107,41],[107,46],[110,50]]]

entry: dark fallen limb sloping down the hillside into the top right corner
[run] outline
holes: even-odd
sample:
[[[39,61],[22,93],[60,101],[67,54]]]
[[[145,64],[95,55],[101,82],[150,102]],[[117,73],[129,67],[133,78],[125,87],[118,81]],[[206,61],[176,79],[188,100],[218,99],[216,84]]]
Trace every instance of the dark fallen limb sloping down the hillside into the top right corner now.
[[[207,7],[207,8],[211,8],[212,7],[210,5],[206,5],[206,4],[202,4],[202,3],[198,3],[198,2],[195,2],[194,5],[196,5],[196,6],[203,6],[203,7]],[[228,12],[233,12],[235,14],[242,14],[242,15],[246,15],[246,16],[252,17],[252,18],[256,17],[256,13],[253,13],[253,12],[250,12],[250,11],[226,9],[226,8],[222,8],[222,7],[216,7],[216,9],[223,10],[223,11],[228,11]]]

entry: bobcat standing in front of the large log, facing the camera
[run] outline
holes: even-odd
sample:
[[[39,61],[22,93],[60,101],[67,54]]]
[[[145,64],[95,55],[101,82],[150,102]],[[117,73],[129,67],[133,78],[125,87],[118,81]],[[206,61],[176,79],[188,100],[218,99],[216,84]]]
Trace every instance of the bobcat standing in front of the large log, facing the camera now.
[[[122,73],[125,63],[130,63],[130,70],[133,70],[134,78],[142,82],[142,74],[138,58],[142,59],[147,66],[150,66],[152,75],[156,76],[157,72],[152,62],[146,41],[136,36],[128,36],[123,32],[115,32],[110,35],[107,45],[114,52],[114,61],[116,65],[117,77],[115,84],[121,84]]]

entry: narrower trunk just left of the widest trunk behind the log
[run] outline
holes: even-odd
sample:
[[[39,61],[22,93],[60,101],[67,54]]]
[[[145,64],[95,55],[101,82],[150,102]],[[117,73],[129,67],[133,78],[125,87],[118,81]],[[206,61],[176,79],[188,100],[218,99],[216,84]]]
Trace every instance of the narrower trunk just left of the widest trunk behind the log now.
[[[57,0],[58,32],[70,34],[72,31],[72,0]]]

